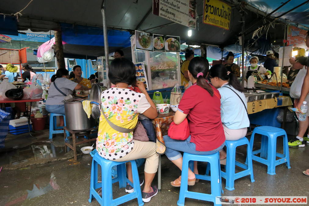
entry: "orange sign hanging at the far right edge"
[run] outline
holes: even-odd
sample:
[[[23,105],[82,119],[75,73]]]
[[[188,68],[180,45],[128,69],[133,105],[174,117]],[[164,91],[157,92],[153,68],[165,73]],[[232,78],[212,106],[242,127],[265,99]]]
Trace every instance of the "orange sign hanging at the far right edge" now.
[[[307,49],[306,42],[304,41],[307,36],[306,30],[288,25],[287,35],[288,45]]]

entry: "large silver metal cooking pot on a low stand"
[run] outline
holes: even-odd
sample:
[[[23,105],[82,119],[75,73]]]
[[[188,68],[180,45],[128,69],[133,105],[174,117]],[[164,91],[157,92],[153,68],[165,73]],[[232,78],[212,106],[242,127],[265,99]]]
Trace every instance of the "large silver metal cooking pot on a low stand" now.
[[[84,130],[95,126],[95,120],[88,119],[81,102],[65,102],[66,128],[70,130]]]

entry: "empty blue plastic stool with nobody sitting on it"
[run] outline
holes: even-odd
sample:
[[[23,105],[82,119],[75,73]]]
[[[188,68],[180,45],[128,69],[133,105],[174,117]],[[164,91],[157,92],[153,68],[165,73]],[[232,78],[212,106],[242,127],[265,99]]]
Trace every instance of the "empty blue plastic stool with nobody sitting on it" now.
[[[261,134],[261,149],[253,151],[253,142],[254,135]],[[277,137],[283,136],[283,154],[277,153]],[[268,139],[267,139],[268,137]],[[261,126],[256,127],[253,130],[250,139],[250,146],[252,151],[252,160],[263,163],[267,165],[267,174],[274,175],[276,166],[282,163],[286,163],[288,169],[290,169],[290,156],[289,156],[289,147],[288,147],[288,137],[286,131],[281,128],[270,127],[270,126]],[[256,154],[260,153],[260,157]],[[276,160],[276,156],[281,158]]]

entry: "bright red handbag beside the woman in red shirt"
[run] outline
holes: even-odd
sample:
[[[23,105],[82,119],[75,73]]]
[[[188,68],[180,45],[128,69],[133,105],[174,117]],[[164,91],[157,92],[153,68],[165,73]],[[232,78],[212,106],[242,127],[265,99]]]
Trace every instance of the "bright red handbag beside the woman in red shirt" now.
[[[180,124],[171,123],[167,135],[174,140],[186,140],[190,136],[189,123],[187,118]]]

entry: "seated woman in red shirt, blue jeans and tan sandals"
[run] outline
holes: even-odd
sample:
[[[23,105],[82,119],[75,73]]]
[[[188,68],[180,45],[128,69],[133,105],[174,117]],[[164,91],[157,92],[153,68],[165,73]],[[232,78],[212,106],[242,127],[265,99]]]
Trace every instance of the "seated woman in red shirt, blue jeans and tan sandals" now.
[[[188,118],[190,136],[188,139],[174,140],[164,136],[165,154],[180,170],[182,155],[180,151],[209,155],[218,152],[224,146],[225,136],[220,114],[220,93],[205,79],[209,63],[204,57],[194,57],[189,64],[188,74],[193,83],[184,93],[174,123],[180,124]],[[188,185],[195,184],[195,174],[189,169]],[[180,187],[181,176],[171,185]]]

